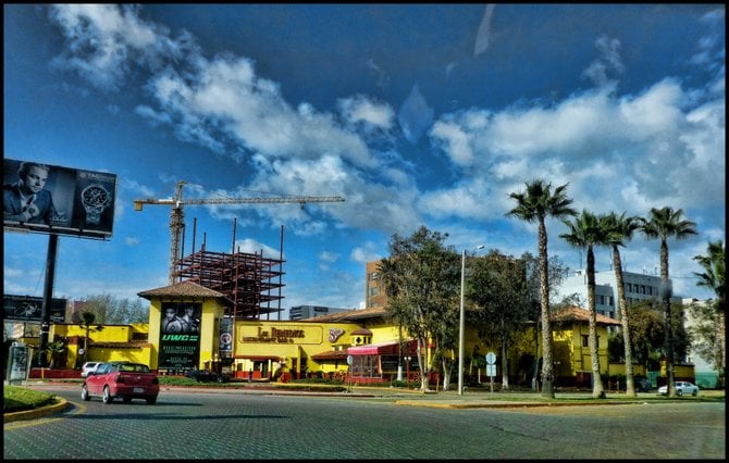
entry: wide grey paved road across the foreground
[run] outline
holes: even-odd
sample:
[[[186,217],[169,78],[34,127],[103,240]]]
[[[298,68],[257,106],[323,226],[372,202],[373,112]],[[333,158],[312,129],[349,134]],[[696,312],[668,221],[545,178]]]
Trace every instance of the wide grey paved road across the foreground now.
[[[387,397],[165,390],[3,427],[16,459],[721,459],[724,402],[436,409]]]

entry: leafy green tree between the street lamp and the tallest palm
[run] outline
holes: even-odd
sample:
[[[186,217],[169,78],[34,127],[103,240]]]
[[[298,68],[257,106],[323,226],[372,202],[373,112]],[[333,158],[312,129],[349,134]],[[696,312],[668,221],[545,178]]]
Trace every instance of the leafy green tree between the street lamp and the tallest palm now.
[[[479,337],[494,339],[501,349],[502,389],[509,389],[508,348],[524,330],[530,299],[527,290],[527,265],[523,261],[492,250],[472,259],[466,297],[473,302],[472,320]],[[473,363],[479,366],[480,362]]]

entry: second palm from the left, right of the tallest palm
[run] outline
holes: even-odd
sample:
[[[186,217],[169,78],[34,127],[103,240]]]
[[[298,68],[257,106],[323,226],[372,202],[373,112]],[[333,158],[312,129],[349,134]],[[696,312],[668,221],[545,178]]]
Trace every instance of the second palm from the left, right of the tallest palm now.
[[[595,253],[593,246],[604,242],[601,218],[582,210],[574,222],[564,221],[569,233],[559,235],[576,248],[588,248],[588,310],[590,312],[590,358],[592,360],[592,397],[605,399],[605,388],[600,376],[600,353],[597,351],[597,313],[595,311]]]

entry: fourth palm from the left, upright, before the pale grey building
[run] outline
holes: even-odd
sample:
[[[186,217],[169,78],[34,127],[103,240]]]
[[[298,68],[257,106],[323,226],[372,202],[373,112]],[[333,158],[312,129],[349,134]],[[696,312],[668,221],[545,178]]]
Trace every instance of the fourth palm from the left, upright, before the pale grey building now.
[[[668,238],[687,238],[696,235],[696,224],[683,220],[683,210],[674,210],[670,207],[662,209],[651,208],[650,218],[641,217],[641,229],[647,238],[660,239],[660,299],[664,306],[666,326],[666,373],[668,375],[668,397],[676,397],[674,362],[674,325],[671,320],[671,288],[668,284]]]

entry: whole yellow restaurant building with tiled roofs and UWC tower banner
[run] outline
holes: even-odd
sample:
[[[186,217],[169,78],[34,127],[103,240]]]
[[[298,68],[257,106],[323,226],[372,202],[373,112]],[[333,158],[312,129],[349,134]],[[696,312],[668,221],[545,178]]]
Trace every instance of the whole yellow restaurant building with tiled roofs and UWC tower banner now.
[[[107,325],[90,329],[86,355],[82,355],[86,333],[78,325],[54,324],[50,339],[65,340],[67,351],[61,362],[79,367],[81,360],[133,360],[150,365],[159,374],[181,375],[193,368],[209,368],[255,380],[289,380],[310,376],[351,375],[355,384],[392,381],[405,376],[417,379],[417,345],[398,331],[383,306],[326,314],[301,321],[246,320],[231,323],[224,316],[230,301],[218,291],[184,281],[139,292],[150,301],[149,324]],[[185,317],[189,315],[188,321]],[[608,374],[608,326],[618,321],[597,315],[601,367]],[[554,315],[554,359],[557,384],[589,384],[591,359],[586,336],[588,312],[570,308]],[[520,343],[512,346],[508,376],[512,381],[531,378],[535,346],[533,327]],[[479,339],[467,327],[466,352],[501,355],[489,340]],[[424,358],[432,360],[432,346]],[[453,353],[455,356],[455,352]],[[540,353],[541,354],[541,353]],[[348,360],[351,361],[349,365]],[[470,362],[469,362],[470,364]],[[502,365],[497,362],[497,380]],[[469,375],[474,375],[469,367]],[[480,374],[480,372],[479,372]],[[431,377],[432,380],[437,380]]]

